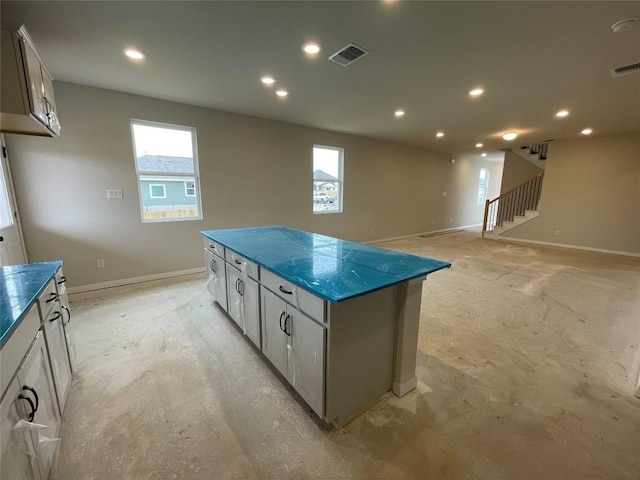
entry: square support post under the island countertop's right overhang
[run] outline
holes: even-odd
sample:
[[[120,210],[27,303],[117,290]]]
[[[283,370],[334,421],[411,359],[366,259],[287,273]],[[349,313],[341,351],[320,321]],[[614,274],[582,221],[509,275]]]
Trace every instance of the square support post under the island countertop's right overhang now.
[[[416,358],[423,281],[424,278],[419,278],[398,286],[398,332],[393,393],[399,397],[406,395],[418,384]]]

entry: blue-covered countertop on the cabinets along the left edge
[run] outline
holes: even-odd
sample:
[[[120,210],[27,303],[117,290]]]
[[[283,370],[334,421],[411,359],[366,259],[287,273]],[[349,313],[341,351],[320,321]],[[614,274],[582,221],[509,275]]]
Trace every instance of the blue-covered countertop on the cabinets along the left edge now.
[[[62,261],[2,267],[0,271],[0,346],[36,302]]]

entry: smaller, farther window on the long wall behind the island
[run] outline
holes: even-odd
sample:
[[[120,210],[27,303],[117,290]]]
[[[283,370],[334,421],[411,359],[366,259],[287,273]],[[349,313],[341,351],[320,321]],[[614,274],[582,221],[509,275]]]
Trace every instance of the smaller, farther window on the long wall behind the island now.
[[[313,146],[313,213],[342,212],[344,150]]]

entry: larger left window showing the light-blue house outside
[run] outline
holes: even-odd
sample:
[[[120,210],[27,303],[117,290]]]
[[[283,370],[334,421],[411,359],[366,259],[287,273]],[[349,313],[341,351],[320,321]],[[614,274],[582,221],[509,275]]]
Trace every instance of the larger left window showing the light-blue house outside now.
[[[196,130],[131,121],[142,222],[201,220]]]

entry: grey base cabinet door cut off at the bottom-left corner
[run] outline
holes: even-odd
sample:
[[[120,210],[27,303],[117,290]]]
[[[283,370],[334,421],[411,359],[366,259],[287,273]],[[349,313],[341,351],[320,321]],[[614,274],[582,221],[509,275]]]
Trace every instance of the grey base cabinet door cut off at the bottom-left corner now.
[[[14,377],[0,404],[0,478],[34,480],[40,478],[40,470],[31,431],[14,429],[18,421],[29,420],[32,410],[27,400],[19,398],[20,389],[18,377]]]

